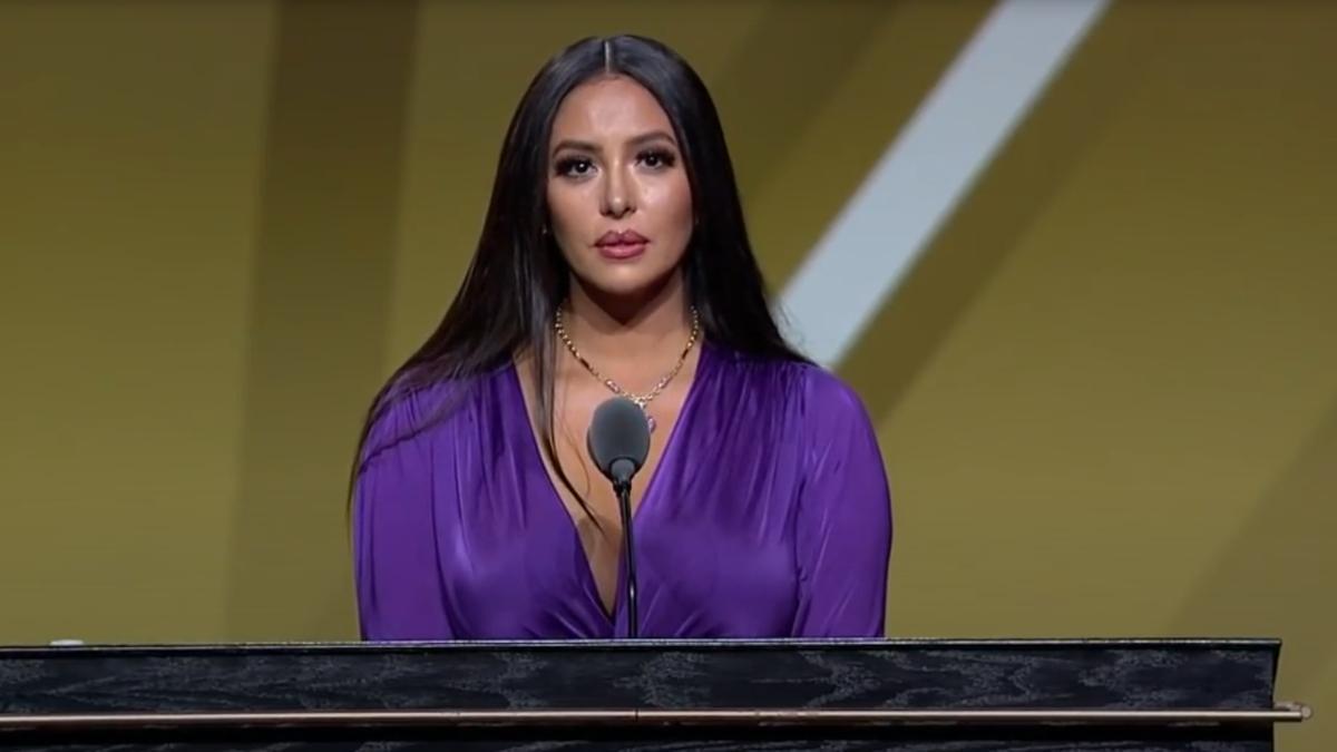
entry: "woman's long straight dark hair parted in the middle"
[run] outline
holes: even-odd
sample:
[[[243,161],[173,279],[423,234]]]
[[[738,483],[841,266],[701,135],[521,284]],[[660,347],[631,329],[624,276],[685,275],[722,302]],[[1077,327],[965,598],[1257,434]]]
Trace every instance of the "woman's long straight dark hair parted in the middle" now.
[[[701,78],[677,52],[652,39],[587,37],[548,60],[520,99],[464,282],[432,336],[376,395],[358,439],[352,483],[370,456],[408,438],[390,436],[366,446],[377,420],[398,399],[443,383],[467,381],[528,349],[537,383],[532,417],[540,447],[567,490],[586,506],[554,447],[552,321],[570,292],[571,272],[543,227],[548,218],[548,139],[558,106],[580,83],[610,74],[646,87],[673,123],[697,222],[683,277],[706,341],[753,356],[806,360],[785,343],[771,317],[761,269],[747,241],[719,115]],[[409,435],[431,420],[420,423]]]

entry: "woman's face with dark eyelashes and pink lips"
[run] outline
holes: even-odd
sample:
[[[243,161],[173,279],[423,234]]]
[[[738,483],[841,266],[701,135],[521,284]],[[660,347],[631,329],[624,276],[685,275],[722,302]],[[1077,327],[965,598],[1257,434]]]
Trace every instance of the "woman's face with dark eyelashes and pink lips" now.
[[[691,186],[673,124],[634,80],[571,91],[548,143],[551,231],[576,277],[604,294],[663,284],[691,240]]]

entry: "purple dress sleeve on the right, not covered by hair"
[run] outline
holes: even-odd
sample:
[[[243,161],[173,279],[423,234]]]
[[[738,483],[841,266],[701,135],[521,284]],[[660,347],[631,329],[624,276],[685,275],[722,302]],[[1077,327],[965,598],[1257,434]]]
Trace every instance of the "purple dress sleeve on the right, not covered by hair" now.
[[[796,530],[794,637],[882,637],[892,502],[858,396],[816,372],[804,405],[806,470]]]

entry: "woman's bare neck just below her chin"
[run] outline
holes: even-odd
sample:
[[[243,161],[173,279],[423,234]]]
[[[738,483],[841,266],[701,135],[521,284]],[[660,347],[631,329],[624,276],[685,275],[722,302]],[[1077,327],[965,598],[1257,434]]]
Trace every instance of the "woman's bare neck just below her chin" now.
[[[580,353],[616,379],[677,363],[691,333],[691,310],[681,273],[639,300],[614,298],[572,281],[564,324]]]

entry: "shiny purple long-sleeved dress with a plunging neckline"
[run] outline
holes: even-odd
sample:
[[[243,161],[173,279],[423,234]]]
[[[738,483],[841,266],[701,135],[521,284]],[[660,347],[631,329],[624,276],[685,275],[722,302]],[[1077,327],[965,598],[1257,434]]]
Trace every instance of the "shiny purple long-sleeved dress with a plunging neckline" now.
[[[610,617],[515,367],[473,381],[410,439],[393,442],[443,389],[372,428],[354,488],[362,637],[626,637],[622,583]],[[826,371],[705,344],[632,526],[642,637],[882,636],[886,475],[862,403]]]

